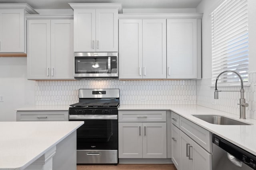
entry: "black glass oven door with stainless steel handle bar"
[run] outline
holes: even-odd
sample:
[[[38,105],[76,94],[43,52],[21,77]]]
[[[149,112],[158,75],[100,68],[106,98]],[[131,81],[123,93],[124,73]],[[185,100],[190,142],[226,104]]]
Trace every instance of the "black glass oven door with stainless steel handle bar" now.
[[[117,115],[70,115],[69,121],[84,121],[77,133],[77,150],[117,150]]]

